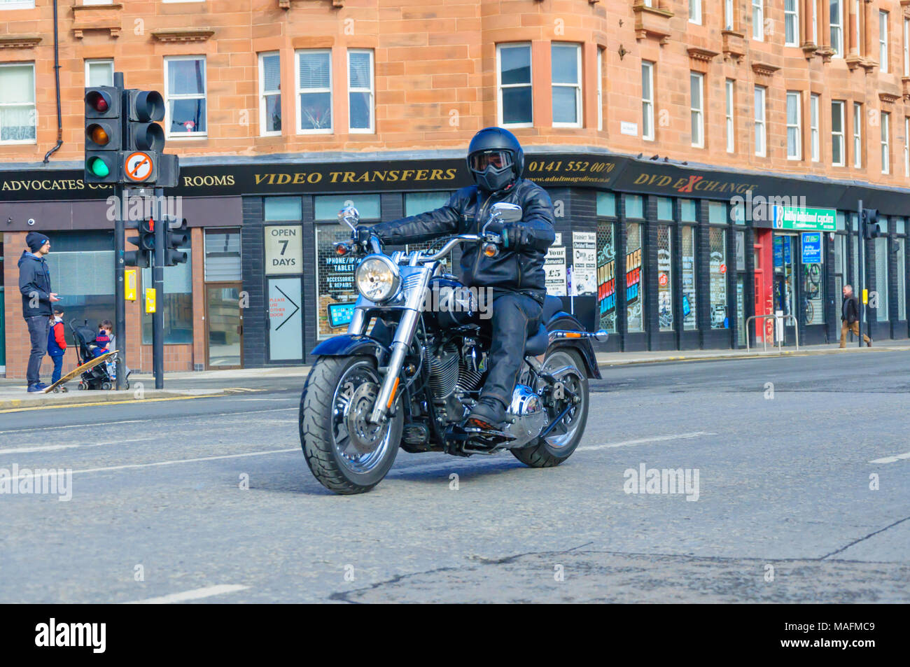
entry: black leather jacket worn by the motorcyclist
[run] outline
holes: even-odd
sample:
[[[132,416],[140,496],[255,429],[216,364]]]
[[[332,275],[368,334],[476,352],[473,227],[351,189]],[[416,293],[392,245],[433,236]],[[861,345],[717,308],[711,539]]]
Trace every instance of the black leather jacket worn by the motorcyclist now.
[[[444,207],[379,223],[370,232],[383,243],[403,245],[455,234],[480,234],[490,207],[497,202],[518,204],[524,212],[521,225],[531,232],[530,248],[519,251],[503,249],[494,258],[480,251],[480,244],[462,244],[461,281],[469,286],[483,286],[528,294],[543,302],[546,295],[543,261],[547,248],[555,240],[553,233],[553,204],[546,190],[536,183],[520,178],[508,193],[486,197],[477,186],[462,187]],[[490,231],[499,231],[490,225]]]

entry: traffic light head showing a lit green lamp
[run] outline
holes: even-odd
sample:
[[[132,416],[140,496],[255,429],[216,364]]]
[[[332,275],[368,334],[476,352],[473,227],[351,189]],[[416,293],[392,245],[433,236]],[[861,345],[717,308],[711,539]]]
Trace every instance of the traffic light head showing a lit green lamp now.
[[[120,90],[114,86],[86,87],[86,183],[116,183],[120,178],[123,144]]]

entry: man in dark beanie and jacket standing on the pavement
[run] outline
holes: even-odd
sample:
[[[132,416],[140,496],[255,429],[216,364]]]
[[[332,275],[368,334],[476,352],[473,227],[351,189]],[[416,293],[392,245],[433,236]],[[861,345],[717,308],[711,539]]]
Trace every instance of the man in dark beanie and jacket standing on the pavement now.
[[[51,304],[60,299],[51,291],[51,273],[45,261],[45,255],[51,251],[51,239],[40,232],[28,232],[25,245],[28,249],[19,258],[19,291],[22,292],[22,316],[32,339],[25,374],[31,392],[47,387],[41,382],[41,362],[47,354],[47,336],[54,314]]]

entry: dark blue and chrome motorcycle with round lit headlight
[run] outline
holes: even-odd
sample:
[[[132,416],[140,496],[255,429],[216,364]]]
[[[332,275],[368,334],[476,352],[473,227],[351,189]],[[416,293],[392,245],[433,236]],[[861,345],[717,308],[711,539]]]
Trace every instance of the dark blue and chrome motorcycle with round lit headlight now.
[[[506,427],[462,425],[483,386],[490,332],[479,295],[446,274],[442,259],[460,243],[494,257],[502,240],[487,231],[490,222],[521,220],[521,207],[495,204],[480,235],[450,237],[437,252],[390,255],[376,237],[369,247],[358,242],[357,209],[339,218],[352,235],[335,250],[359,258],[359,298],[348,332],[313,349],[300,398],[300,445],[316,479],[337,493],[368,491],[399,447],[458,456],[510,450],[535,468],[568,459],[588,419],[588,379],[601,377],[590,339],[607,334],[584,331],[560,298],[546,298],[541,327],[525,345]]]

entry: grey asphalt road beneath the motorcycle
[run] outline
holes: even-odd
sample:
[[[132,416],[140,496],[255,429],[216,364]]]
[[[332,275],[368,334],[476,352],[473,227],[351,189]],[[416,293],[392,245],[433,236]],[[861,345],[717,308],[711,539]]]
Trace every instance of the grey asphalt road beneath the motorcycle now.
[[[0,601],[910,601],[905,352],[603,374],[558,468],[399,451],[353,497],[303,460],[299,378],[0,414],[0,477],[73,471],[0,493]]]

